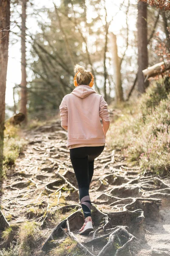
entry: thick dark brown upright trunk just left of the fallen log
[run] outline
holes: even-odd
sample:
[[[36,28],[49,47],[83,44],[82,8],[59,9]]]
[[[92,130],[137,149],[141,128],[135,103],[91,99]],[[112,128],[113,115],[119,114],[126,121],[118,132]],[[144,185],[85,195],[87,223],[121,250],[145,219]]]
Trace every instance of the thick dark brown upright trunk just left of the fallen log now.
[[[149,82],[144,82],[142,70],[148,67],[147,55],[147,3],[139,1],[138,3],[138,18],[137,18],[137,33],[138,33],[138,91],[144,93]]]

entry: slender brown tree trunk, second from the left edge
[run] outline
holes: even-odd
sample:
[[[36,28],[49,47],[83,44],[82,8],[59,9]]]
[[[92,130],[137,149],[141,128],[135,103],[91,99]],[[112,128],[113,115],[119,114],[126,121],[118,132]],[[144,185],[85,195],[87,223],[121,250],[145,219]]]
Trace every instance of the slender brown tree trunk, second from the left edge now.
[[[20,112],[26,116],[24,123],[27,123],[27,81],[26,81],[26,3],[22,0],[22,26],[21,26],[21,102]]]

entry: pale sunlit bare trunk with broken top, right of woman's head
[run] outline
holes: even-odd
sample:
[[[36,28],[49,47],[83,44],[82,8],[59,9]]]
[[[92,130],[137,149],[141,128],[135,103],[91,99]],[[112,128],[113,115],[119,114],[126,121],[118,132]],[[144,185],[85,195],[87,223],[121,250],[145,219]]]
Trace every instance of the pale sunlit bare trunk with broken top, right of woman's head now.
[[[113,56],[113,70],[115,77],[115,94],[116,94],[116,104],[123,101],[123,90],[122,90],[122,77],[120,72],[120,61],[117,52],[116,35],[111,33],[112,42],[112,56]]]

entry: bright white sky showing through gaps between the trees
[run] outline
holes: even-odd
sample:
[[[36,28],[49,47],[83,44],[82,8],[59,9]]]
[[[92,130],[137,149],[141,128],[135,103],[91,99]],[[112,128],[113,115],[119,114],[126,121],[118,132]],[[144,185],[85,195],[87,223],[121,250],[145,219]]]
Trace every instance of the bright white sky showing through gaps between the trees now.
[[[59,4],[59,0],[54,1],[56,5]],[[87,0],[88,2],[88,0]],[[122,1],[120,1],[122,2]],[[113,13],[117,13],[119,11],[119,1],[117,0],[106,0],[106,8],[108,10],[108,20],[111,19]],[[131,4],[136,4],[136,0],[130,0]],[[45,6],[46,8],[54,8],[53,0],[34,0],[35,6],[37,6],[37,9]],[[125,0],[125,4],[127,5],[127,0]],[[114,7],[114,8],[113,8]],[[34,8],[36,9],[36,8]],[[29,15],[33,10],[30,8],[27,10],[27,23],[26,26],[29,29],[29,32],[32,34],[36,33],[36,31],[39,31],[38,27],[38,20],[47,20],[47,17],[43,15],[44,17],[41,17],[37,15],[37,17],[32,17],[32,15]],[[89,15],[89,17],[93,17],[93,13]],[[20,23],[20,18],[16,19],[16,17],[11,17],[11,21],[17,20],[18,23]],[[132,31],[136,30],[136,22],[133,17],[129,17],[129,29]],[[110,26],[110,31],[114,32],[115,34],[119,33],[119,30],[123,27],[126,27],[126,20],[125,20],[125,14],[124,12],[119,12],[115,19],[113,20],[113,23]],[[12,28],[13,26],[11,26]],[[19,29],[17,27],[14,27],[11,29],[13,32],[18,33]],[[13,38],[13,36],[11,36]],[[10,40],[11,42],[11,40]],[[14,42],[11,42],[14,43]],[[15,43],[9,45],[9,58],[8,58],[8,70],[7,70],[7,84],[6,84],[6,104],[13,106],[13,87],[15,84],[20,84],[21,82],[21,64],[20,64],[20,40]],[[118,38],[118,46],[122,47],[122,41],[121,38]],[[27,58],[29,58],[29,47],[30,45],[27,44]],[[27,71],[29,70],[29,67],[27,68]],[[28,78],[27,81],[31,80],[30,73],[27,72]],[[16,99],[17,100],[17,99]]]

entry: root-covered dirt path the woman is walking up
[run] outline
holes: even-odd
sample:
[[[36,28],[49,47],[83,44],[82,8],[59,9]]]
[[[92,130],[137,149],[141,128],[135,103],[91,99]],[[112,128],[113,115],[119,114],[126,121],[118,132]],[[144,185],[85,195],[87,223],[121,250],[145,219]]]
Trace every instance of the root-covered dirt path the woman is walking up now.
[[[1,205],[9,225],[40,224],[30,255],[60,255],[56,248],[69,237],[82,254],[63,255],[170,256],[170,177],[142,172],[106,143],[90,186],[94,231],[81,236],[84,218],[67,131],[57,120],[22,136],[28,144],[7,173]]]

